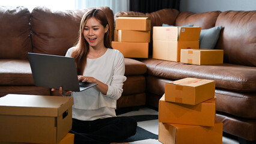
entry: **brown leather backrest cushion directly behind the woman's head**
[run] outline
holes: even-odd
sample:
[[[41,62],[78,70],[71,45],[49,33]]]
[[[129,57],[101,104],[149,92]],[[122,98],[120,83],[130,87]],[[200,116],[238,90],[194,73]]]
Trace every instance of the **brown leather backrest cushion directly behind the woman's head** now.
[[[114,35],[114,14],[109,7],[97,7],[109,19],[111,37]],[[36,7],[31,13],[32,44],[34,53],[65,55],[79,37],[79,26],[84,10],[53,11],[46,7]]]

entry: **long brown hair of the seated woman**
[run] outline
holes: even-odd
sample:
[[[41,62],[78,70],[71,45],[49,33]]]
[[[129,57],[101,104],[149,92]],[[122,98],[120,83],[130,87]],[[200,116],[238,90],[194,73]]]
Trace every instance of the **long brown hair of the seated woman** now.
[[[87,20],[91,17],[94,17],[95,19],[99,20],[100,24],[103,25],[104,28],[106,28],[106,25],[109,25],[108,17],[106,17],[106,14],[104,11],[100,9],[91,9],[87,11],[87,13],[84,14],[82,17],[81,23],[80,23],[80,30],[79,30],[79,38],[78,42],[76,44],[76,49],[72,53],[72,57],[75,58],[76,62],[76,70],[78,71],[78,75],[82,75],[84,73],[84,68],[87,63],[87,55],[89,52],[89,44],[84,38],[84,27],[87,23]],[[111,48],[111,38],[110,38],[110,29],[111,26],[109,26],[108,32],[104,35],[104,46],[107,48]]]

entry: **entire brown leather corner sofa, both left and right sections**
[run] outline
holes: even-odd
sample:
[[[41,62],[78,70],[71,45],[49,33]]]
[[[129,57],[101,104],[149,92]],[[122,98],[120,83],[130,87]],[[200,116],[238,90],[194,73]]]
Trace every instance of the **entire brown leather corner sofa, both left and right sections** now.
[[[125,58],[127,80],[117,106],[158,107],[165,83],[184,77],[212,79],[216,81],[216,119],[224,122],[224,131],[240,137],[241,142],[256,140],[256,11],[196,14],[165,9],[147,14],[120,11],[114,16],[108,7],[100,8],[108,15],[112,34],[115,18],[124,15],[147,15],[151,26],[192,23],[208,29],[222,25],[216,49],[224,50],[224,64],[198,66]],[[24,7],[0,7],[0,97],[56,95],[49,88],[34,85],[27,53],[65,55],[76,42],[79,22],[87,10],[52,11],[37,7],[30,13]],[[152,39],[149,52],[151,55]]]

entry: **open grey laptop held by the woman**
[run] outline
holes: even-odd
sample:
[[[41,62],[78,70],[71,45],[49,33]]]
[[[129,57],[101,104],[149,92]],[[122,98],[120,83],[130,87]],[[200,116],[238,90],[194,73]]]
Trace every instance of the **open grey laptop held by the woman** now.
[[[28,59],[36,86],[79,92],[97,85],[79,82],[74,58],[28,53]]]

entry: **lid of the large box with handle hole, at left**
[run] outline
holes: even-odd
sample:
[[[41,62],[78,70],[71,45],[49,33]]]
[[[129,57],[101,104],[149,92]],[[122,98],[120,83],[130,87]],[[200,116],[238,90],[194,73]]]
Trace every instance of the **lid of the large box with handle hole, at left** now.
[[[8,94],[0,98],[0,115],[58,116],[73,105],[73,97]]]

